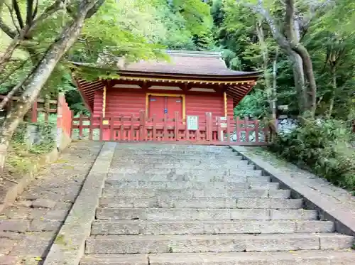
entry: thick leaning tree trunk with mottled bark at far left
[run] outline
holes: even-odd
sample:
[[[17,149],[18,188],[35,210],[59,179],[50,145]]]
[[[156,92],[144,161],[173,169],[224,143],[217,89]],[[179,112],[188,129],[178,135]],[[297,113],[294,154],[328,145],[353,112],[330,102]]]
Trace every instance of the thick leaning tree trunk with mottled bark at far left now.
[[[67,24],[57,40],[50,45],[45,56],[33,71],[33,75],[28,77],[23,85],[24,92],[21,99],[16,104],[16,107],[11,109],[0,129],[0,173],[4,171],[7,149],[13,132],[23,119],[23,116],[31,108],[31,104],[37,99],[40,90],[47,82],[59,60],[77,40],[87,12],[92,9],[96,2],[95,0],[84,0],[80,3],[77,16],[71,23]]]

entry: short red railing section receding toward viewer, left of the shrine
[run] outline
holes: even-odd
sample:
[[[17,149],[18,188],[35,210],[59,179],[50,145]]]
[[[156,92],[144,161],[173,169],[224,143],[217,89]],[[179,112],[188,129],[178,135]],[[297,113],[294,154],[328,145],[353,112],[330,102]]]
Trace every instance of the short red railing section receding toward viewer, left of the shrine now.
[[[61,129],[61,131],[69,137],[72,134],[72,116],[73,113],[65,101],[65,94],[59,93],[57,106],[57,129]]]

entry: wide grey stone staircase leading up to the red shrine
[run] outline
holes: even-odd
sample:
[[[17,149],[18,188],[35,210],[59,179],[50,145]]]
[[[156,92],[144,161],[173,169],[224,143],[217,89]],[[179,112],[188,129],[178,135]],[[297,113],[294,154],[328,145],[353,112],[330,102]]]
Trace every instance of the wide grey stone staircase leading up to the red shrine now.
[[[217,146],[119,144],[81,265],[350,265],[354,238]]]

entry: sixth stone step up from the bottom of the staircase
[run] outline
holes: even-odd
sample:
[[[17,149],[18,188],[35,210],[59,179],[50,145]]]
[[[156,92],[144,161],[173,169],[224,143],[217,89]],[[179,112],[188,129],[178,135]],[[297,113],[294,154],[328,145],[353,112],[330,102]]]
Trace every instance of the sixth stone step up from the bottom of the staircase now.
[[[103,197],[131,197],[131,198],[290,198],[290,190],[267,189],[217,189],[207,188],[197,190],[193,188],[181,189],[151,189],[151,188],[104,188]]]

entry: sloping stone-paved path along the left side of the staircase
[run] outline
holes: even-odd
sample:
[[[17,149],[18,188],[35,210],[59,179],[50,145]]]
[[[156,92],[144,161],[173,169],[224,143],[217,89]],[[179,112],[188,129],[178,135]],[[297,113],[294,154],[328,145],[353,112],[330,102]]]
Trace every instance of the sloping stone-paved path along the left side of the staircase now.
[[[0,214],[0,265],[40,264],[102,147],[73,143]]]

